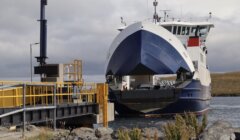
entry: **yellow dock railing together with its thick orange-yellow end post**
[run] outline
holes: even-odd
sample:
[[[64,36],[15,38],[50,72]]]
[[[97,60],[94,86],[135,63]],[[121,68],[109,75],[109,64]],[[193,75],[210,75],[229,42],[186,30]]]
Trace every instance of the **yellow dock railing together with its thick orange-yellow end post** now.
[[[108,126],[108,85],[83,82],[10,82],[0,81],[0,108],[97,103],[102,122]]]

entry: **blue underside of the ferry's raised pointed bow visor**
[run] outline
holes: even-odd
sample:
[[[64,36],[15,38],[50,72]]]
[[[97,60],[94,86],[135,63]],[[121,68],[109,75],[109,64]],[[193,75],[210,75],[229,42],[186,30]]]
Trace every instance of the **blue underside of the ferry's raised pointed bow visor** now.
[[[106,75],[175,74],[179,69],[190,71],[168,41],[139,30],[119,44],[108,63]]]

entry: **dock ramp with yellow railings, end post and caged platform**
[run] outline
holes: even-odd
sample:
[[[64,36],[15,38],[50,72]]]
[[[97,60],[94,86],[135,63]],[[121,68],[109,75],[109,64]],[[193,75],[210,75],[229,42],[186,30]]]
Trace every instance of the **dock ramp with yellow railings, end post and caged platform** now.
[[[26,124],[51,122],[55,129],[64,122],[68,125],[102,123],[107,127],[108,85],[84,82],[80,62],[63,65],[63,79],[68,79],[65,81],[0,81],[0,126],[25,128]],[[66,70],[68,66],[72,68]]]

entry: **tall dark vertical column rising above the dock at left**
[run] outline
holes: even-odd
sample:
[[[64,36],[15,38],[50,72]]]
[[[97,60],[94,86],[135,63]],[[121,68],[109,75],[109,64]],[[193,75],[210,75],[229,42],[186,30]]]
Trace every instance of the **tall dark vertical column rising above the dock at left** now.
[[[40,11],[40,56],[36,57],[40,66],[46,64],[47,59],[47,20],[45,19],[45,6],[47,0],[41,0]]]

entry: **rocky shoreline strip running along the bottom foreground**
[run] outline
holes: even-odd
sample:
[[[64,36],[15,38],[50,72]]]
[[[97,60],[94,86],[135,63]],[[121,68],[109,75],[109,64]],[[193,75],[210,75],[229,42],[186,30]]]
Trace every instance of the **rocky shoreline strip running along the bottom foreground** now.
[[[117,130],[112,128],[99,127],[96,129],[88,127],[79,127],[75,129],[53,129],[48,127],[38,127],[28,125],[26,128],[25,138],[22,137],[22,129],[9,130],[5,127],[0,127],[0,139],[4,140],[35,140],[35,139],[52,139],[52,140],[75,140],[75,139],[88,139],[88,140],[117,140],[120,137],[125,137],[136,134],[138,139],[154,139],[163,140],[167,136],[164,134],[164,127],[145,127],[145,128],[127,128],[119,126]],[[216,140],[216,139],[238,139],[240,138],[240,128],[232,127],[232,124],[226,121],[215,121],[207,127],[200,135],[193,139],[201,140]]]

